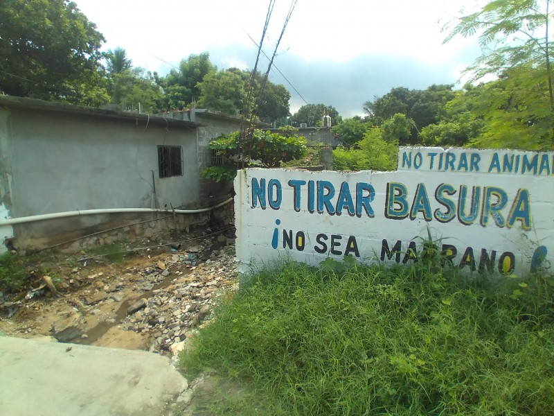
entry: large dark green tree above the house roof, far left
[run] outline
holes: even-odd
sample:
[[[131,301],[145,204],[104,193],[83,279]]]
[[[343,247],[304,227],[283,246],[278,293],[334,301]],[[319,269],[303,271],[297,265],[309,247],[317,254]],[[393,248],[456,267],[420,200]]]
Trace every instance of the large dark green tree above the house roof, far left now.
[[[108,101],[96,25],[67,0],[0,2],[0,89],[84,105]]]

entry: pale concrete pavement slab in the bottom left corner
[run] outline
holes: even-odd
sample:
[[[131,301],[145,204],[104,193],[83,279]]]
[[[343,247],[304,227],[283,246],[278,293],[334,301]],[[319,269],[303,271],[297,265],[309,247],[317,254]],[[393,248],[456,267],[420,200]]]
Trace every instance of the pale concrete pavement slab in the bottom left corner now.
[[[0,336],[0,415],[169,415],[186,388],[158,354]]]

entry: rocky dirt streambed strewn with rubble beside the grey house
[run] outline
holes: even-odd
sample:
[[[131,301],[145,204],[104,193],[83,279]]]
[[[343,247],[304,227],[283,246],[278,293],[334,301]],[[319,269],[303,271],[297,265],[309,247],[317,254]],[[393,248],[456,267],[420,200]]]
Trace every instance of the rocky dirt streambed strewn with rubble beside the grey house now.
[[[0,333],[170,355],[208,317],[215,295],[236,286],[234,246],[222,234],[147,245],[120,261],[80,252],[28,265],[26,291],[0,297]]]

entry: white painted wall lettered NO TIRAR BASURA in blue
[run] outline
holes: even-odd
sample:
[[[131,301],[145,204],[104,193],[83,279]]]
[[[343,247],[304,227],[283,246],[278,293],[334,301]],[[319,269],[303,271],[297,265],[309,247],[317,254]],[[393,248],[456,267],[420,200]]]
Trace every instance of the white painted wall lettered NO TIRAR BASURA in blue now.
[[[404,152],[413,153],[411,166],[408,166],[407,162],[402,165]],[[415,168],[413,157],[417,153],[421,153],[422,163]],[[429,153],[437,153],[432,168]],[[445,168],[447,153],[450,154],[449,164],[448,168]],[[443,166],[439,170],[440,154],[443,155]],[[458,163],[454,163],[453,155]],[[507,155],[508,161],[512,155],[519,155],[519,168],[515,168],[514,159],[511,173],[509,169],[503,169],[504,155]],[[521,167],[524,156],[526,169]],[[471,161],[472,157],[473,170],[470,164],[465,168],[463,163],[463,159]],[[496,160],[500,161],[499,168]],[[533,162],[535,160],[536,169]],[[462,162],[459,163],[460,161]],[[345,252],[350,252],[365,263],[382,259],[383,255],[386,261],[399,259],[400,263],[404,260],[409,263],[411,260],[406,257],[406,252],[410,243],[413,242],[412,246],[415,245],[416,249],[420,250],[422,239],[427,237],[428,230],[440,245],[454,246],[457,252],[453,259],[454,264],[467,272],[471,271],[474,261],[476,270],[479,269],[480,263],[485,269],[492,264],[494,273],[513,268],[510,273],[524,275],[531,268],[533,256],[537,257],[543,252],[547,254],[542,267],[550,266],[554,254],[554,212],[551,209],[554,196],[553,153],[401,148],[399,162],[399,171],[385,173],[308,172],[258,168],[240,171],[235,180],[237,255],[240,272],[249,272],[251,266],[278,258],[288,257],[317,264],[327,257],[341,259]],[[264,180],[265,196],[258,189],[258,185]],[[271,195],[267,189],[270,180]],[[300,186],[299,182],[294,181],[305,181],[306,184]],[[314,181],[314,187],[317,187],[318,183],[320,186],[327,185],[323,195],[329,192],[330,187],[335,189],[335,195],[328,198],[328,207],[323,207],[322,212],[318,211],[316,192],[314,212],[310,213],[307,185],[309,181]],[[359,205],[361,209],[355,212],[357,184],[375,191],[373,200],[367,197],[368,191],[361,193],[366,204],[373,209],[371,215],[366,212],[364,205]],[[345,190],[348,186],[350,192],[340,193],[341,185]],[[414,200],[418,186],[419,198]],[[461,187],[464,186],[469,194],[465,199],[458,200]],[[296,196],[297,207],[295,188],[299,190]],[[468,214],[473,189],[479,190],[480,199],[476,205],[478,215],[475,220],[466,221],[466,225],[460,220],[457,211],[454,215],[449,214],[447,205],[452,205],[457,210],[458,205],[464,204]],[[399,196],[402,191],[406,193],[405,198]],[[448,193],[452,193],[452,196]],[[350,198],[354,212],[348,211]],[[269,200],[272,201],[271,204]],[[342,203],[339,203],[339,200]],[[265,202],[265,209],[261,207],[262,201]],[[405,218],[402,211],[403,201],[408,211]],[[499,204],[505,206],[500,207]],[[337,208],[341,215],[333,212],[337,211]],[[412,211],[413,215],[410,215],[409,211]],[[429,218],[425,218],[426,214],[430,214]],[[445,218],[441,218],[441,214]],[[438,218],[446,222],[440,222]],[[508,220],[511,223],[508,223]],[[297,233],[299,237],[303,237],[298,248],[295,243],[289,248],[288,243],[283,242],[284,230],[285,235],[292,231],[293,237]],[[272,246],[274,236],[276,244]],[[334,241],[332,250],[331,241]],[[402,252],[398,257],[383,250],[384,245],[393,250],[397,241],[401,241]],[[452,253],[452,247],[445,248],[450,250],[449,254]],[[481,261],[483,250],[488,256],[488,259],[485,257],[487,261]],[[389,255],[391,259],[388,259]],[[492,257],[494,263],[490,261]]]

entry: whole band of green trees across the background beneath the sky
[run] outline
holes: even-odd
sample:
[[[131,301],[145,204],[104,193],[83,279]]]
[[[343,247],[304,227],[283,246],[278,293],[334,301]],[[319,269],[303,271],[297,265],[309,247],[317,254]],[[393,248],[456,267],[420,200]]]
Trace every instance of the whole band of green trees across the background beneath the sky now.
[[[374,128],[380,129],[381,139],[400,146],[551,150],[552,2],[491,0],[452,19],[443,27],[445,42],[477,36],[482,46],[466,69],[470,83],[461,89],[441,84],[394,87],[366,101],[363,118],[343,120],[332,105],[322,103],[308,103],[290,114],[290,94],[283,85],[265,80],[258,70],[217,69],[208,52],[183,58],[166,76],[133,67],[121,47],[100,53],[103,35],[68,0],[0,3],[0,53],[6,58],[0,62],[0,85],[2,92],[15,96],[96,107],[112,103],[148,113],[204,107],[250,114],[279,126],[321,126],[328,115],[332,134],[356,150],[364,147],[366,135],[375,135]],[[337,157],[339,166],[348,169],[389,168],[383,161],[368,162],[358,151],[339,150]],[[364,160],[357,162],[359,157]],[[213,168],[205,175],[225,179],[230,171]]]

